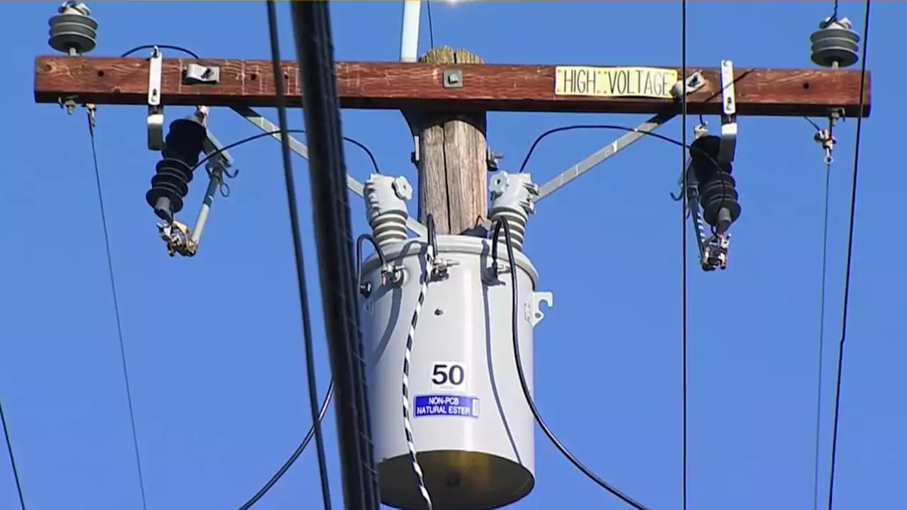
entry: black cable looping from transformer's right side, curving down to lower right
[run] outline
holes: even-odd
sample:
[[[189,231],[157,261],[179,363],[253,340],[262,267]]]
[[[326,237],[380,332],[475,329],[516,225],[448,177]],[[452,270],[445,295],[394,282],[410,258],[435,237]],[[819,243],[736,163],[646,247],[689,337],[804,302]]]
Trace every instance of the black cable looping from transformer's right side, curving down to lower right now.
[[[607,490],[612,495],[616,495],[621,500],[623,500],[624,503],[627,503],[628,505],[636,508],[637,510],[649,510],[649,508],[647,506],[642,505],[638,501],[629,497],[629,495],[625,495],[624,493],[620,492],[618,490],[618,488],[615,487],[614,485],[610,485],[608,482],[601,479],[599,476],[597,476],[595,473],[593,473],[590,470],[590,468],[584,466],[575,456],[573,456],[573,454],[571,454],[570,450],[568,450],[566,446],[563,446],[563,444],[561,444],[561,441],[557,438],[557,436],[554,436],[554,433],[551,432],[551,428],[549,428],[548,425],[545,423],[545,420],[542,419],[541,413],[539,412],[539,408],[535,406],[535,402],[532,399],[531,391],[529,389],[529,383],[526,382],[526,374],[522,368],[522,356],[520,355],[520,338],[519,338],[519,328],[520,328],[519,309],[520,309],[520,306],[519,306],[519,292],[517,290],[517,271],[516,271],[517,265],[516,265],[516,258],[513,256],[513,240],[511,238],[510,225],[507,223],[507,221],[496,221],[496,223],[494,225],[494,231],[493,231],[493,235],[492,235],[492,260],[493,260],[492,268],[495,271],[495,278],[497,278],[496,268],[497,268],[497,260],[498,260],[498,243],[499,243],[498,236],[501,235],[502,229],[504,232],[504,242],[507,247],[507,261],[511,267],[511,270],[510,270],[511,291],[512,291],[511,329],[512,329],[512,337],[513,337],[513,359],[516,362],[516,373],[517,373],[517,376],[519,376],[519,378],[520,378],[520,386],[522,387],[522,394],[524,397],[526,397],[526,403],[529,405],[530,411],[532,411],[532,416],[535,417],[535,421],[536,421],[536,423],[539,424],[539,428],[541,428],[541,431],[545,434],[545,436],[548,436],[548,439],[551,441],[551,444],[554,445],[554,447],[557,448],[558,451],[561,452],[561,455],[566,457],[567,460],[569,460],[573,466],[576,466],[576,468],[579,469],[583,475],[588,476],[590,478],[590,480],[592,480],[596,484],[600,485],[600,487]]]

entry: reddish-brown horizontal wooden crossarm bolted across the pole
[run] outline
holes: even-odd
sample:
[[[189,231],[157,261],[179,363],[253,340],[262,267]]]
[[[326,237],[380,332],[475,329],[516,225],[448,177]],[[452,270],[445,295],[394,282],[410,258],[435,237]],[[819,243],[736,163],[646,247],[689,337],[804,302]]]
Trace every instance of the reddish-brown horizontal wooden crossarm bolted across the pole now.
[[[187,64],[218,65],[217,84],[184,84]],[[161,102],[209,106],[274,106],[274,80],[266,60],[164,59]],[[299,106],[297,65],[283,64],[291,106]],[[667,113],[678,110],[670,99],[556,95],[554,65],[400,64],[339,62],[337,93],[344,108],[459,112]],[[444,70],[458,69],[463,87],[444,88]],[[717,68],[699,71],[707,84],[688,96],[688,113],[720,113]],[[57,103],[62,97],[95,104],[145,104],[148,61],[142,58],[38,56],[34,61],[34,99]],[[870,75],[866,75],[864,116],[870,113]],[[834,108],[856,117],[860,73],[845,70],[736,68],[738,115],[827,116]]]

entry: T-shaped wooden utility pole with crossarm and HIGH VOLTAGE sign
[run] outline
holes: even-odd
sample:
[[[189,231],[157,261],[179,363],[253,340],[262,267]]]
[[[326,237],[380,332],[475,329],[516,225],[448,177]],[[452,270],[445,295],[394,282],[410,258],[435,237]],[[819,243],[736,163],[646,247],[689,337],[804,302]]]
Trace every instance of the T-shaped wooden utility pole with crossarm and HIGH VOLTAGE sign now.
[[[680,113],[666,90],[679,76],[678,68],[481,62],[463,50],[438,48],[419,63],[336,64],[342,107],[405,113],[419,138],[419,218],[432,213],[438,233],[459,234],[486,214],[486,112]],[[190,64],[195,79],[188,73]],[[288,103],[301,106],[297,64],[286,61],[282,67]],[[267,60],[164,59],[161,105],[273,107],[271,69]],[[688,76],[694,73],[703,83],[688,94],[688,113],[722,113],[720,71],[689,67]],[[149,61],[142,58],[39,56],[34,99],[146,104],[149,75]],[[199,75],[208,79],[200,82]],[[738,67],[736,115],[868,117],[870,75],[865,76],[862,111],[860,77],[858,71]]]

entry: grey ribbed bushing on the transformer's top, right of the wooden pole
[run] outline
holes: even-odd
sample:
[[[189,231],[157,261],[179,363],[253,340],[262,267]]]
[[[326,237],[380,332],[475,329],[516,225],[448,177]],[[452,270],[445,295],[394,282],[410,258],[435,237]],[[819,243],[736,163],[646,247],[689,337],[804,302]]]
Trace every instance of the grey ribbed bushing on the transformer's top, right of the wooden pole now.
[[[492,221],[507,221],[513,249],[522,250],[526,221],[535,212],[535,197],[539,196],[539,187],[532,183],[532,176],[528,173],[497,172],[488,184],[488,191],[492,196],[488,218]]]

